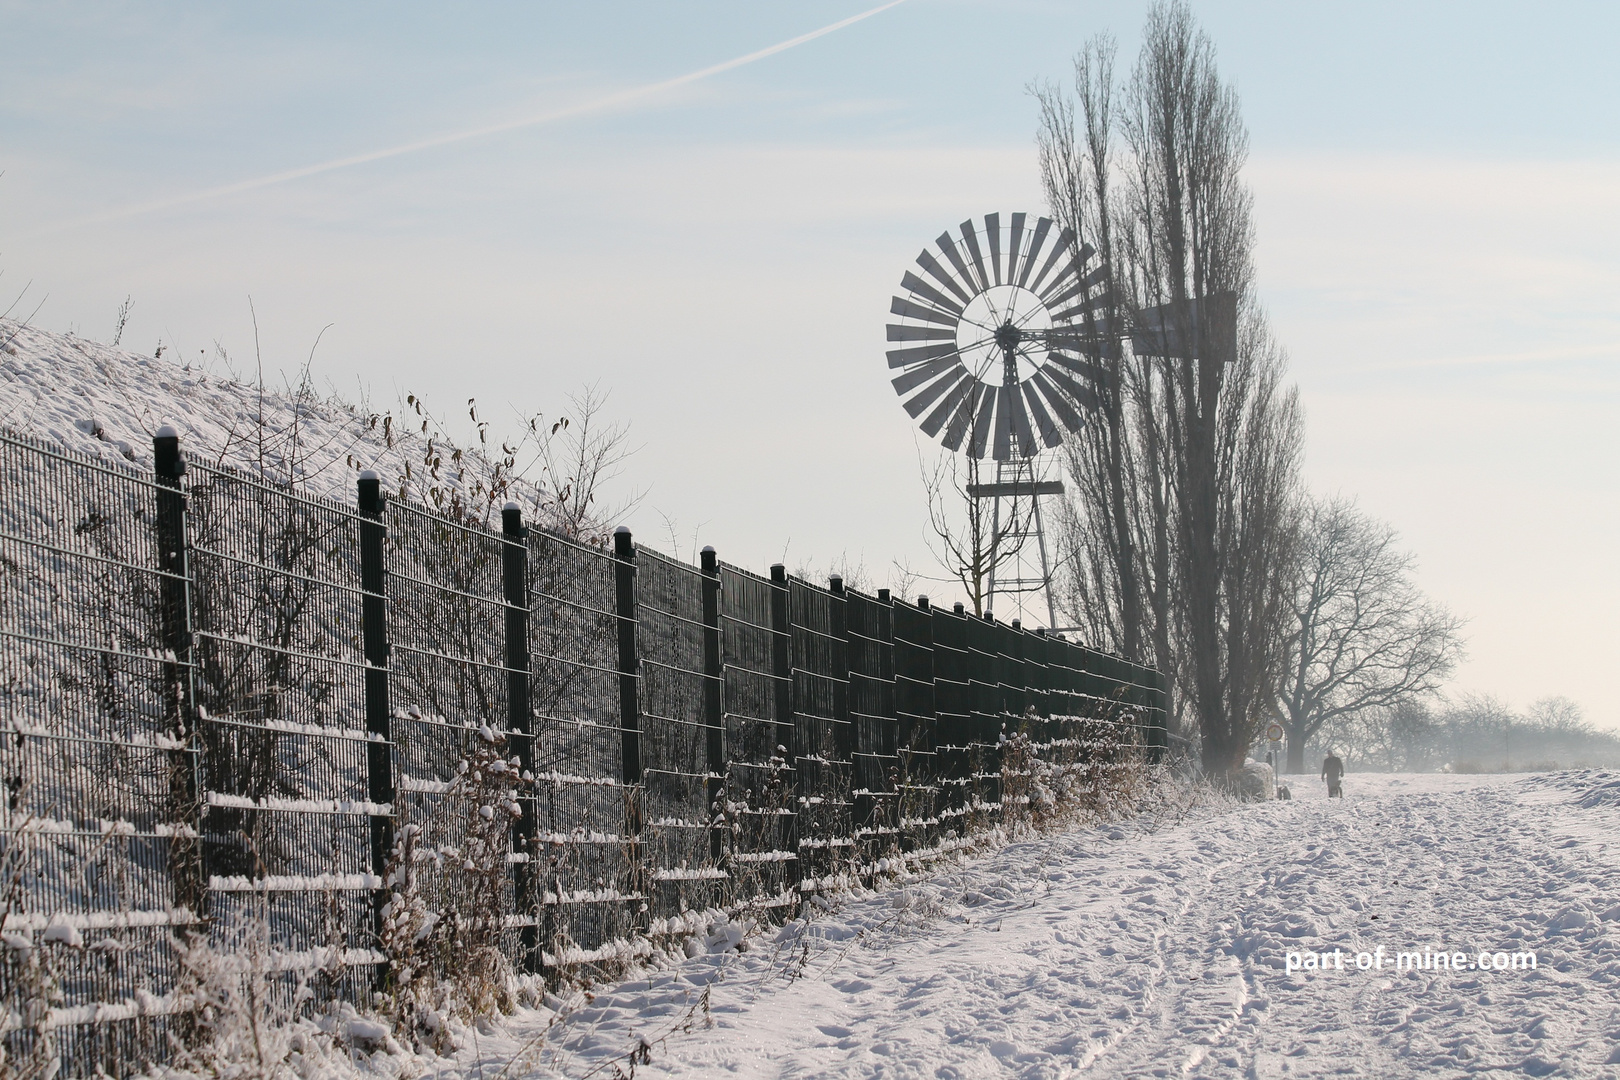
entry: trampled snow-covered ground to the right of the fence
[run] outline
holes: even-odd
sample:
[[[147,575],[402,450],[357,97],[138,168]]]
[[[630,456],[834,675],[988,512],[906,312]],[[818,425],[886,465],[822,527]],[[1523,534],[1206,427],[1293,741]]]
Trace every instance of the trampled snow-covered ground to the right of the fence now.
[[[718,941],[441,1075],[629,1075],[646,1043],[637,1077],[1620,1077],[1620,772],[1294,789]],[[1286,970],[1335,949],[1343,970]],[[1396,972],[1413,949],[1536,970]]]

